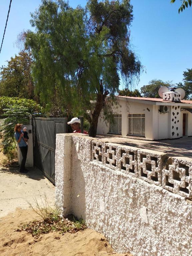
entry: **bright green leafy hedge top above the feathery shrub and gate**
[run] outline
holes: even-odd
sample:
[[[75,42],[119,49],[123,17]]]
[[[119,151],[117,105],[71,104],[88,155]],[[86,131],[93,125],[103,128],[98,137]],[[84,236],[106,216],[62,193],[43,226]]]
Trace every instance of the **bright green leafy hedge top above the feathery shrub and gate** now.
[[[16,97],[0,97],[0,115],[3,114],[3,109],[8,108],[9,106],[19,106],[25,107],[27,112],[31,115],[33,113],[41,113],[41,106],[37,104],[34,100],[24,99],[24,98],[16,98]]]

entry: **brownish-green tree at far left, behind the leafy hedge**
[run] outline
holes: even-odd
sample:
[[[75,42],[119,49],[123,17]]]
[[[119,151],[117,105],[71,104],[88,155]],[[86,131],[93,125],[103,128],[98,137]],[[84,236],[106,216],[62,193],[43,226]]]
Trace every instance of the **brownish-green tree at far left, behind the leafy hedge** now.
[[[0,71],[0,96],[34,98],[34,85],[31,77],[31,54],[21,51]]]

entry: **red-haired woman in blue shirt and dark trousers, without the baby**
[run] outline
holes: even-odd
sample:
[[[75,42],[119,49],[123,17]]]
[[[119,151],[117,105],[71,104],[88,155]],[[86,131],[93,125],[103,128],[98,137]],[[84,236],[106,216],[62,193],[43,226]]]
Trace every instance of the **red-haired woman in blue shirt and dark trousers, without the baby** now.
[[[27,159],[27,150],[28,150],[28,146],[26,143],[26,139],[23,138],[23,133],[21,132],[21,124],[16,124],[14,131],[15,131],[15,139],[18,143],[19,149],[21,151],[22,154],[22,161],[21,161],[21,166],[20,166],[20,172],[26,173],[28,172],[28,170],[25,169],[25,162]]]

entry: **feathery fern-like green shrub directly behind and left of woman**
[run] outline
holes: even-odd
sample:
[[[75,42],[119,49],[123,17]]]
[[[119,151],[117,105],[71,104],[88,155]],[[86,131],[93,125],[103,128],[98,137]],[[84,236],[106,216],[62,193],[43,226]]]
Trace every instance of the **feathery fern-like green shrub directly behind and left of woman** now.
[[[17,123],[27,124],[29,122],[29,113],[26,107],[13,105],[4,109],[3,122],[0,126],[0,133],[2,137],[1,148],[3,154],[7,156],[8,160],[13,160],[16,149],[16,142],[14,139],[14,126]]]

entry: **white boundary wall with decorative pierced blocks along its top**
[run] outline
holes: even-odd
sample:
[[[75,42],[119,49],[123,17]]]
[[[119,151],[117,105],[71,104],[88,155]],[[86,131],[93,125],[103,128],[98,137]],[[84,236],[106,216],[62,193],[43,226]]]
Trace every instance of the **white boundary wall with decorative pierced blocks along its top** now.
[[[117,252],[189,256],[191,168],[190,159],[167,161],[162,152],[57,134],[56,204],[104,234]]]

